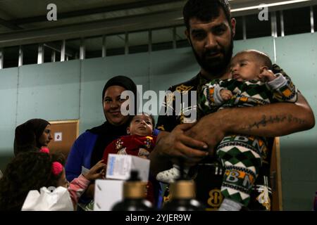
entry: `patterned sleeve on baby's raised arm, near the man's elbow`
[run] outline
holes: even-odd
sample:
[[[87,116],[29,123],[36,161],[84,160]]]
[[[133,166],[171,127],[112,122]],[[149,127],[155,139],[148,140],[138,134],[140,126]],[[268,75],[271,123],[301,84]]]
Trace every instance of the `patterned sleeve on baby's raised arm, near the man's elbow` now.
[[[268,82],[268,86],[273,91],[273,98],[280,102],[294,103],[297,101],[297,89],[288,76],[281,73],[275,75],[276,78]]]

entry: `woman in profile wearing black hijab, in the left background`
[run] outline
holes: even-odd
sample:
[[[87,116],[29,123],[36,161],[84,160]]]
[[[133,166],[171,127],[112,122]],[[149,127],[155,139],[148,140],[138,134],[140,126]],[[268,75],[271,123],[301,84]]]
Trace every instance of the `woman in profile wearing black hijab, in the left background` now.
[[[27,120],[15,128],[14,155],[27,151],[38,151],[51,141],[51,124],[42,119]]]

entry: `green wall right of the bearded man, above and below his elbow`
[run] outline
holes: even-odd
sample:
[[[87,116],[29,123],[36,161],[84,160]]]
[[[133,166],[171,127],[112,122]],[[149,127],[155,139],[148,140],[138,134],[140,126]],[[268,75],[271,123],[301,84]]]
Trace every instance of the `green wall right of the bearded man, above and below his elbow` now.
[[[305,96],[317,118],[317,34],[276,39],[277,63]],[[285,210],[310,210],[317,191],[317,126],[283,136],[282,192]]]

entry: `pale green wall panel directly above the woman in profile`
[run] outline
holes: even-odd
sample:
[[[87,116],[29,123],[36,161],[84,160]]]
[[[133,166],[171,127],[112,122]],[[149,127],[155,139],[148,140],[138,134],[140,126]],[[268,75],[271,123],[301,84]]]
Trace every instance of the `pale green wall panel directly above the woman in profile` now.
[[[25,65],[18,84],[18,124],[79,118],[80,61]]]

